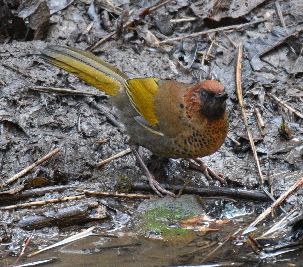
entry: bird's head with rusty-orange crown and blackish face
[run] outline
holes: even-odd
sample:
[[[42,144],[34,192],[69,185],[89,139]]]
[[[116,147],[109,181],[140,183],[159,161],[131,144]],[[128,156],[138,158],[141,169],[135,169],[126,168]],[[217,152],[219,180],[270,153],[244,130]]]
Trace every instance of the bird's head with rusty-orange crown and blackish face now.
[[[224,86],[214,80],[199,82],[188,89],[184,96],[188,116],[198,113],[201,119],[209,121],[219,119],[225,114],[227,98]]]

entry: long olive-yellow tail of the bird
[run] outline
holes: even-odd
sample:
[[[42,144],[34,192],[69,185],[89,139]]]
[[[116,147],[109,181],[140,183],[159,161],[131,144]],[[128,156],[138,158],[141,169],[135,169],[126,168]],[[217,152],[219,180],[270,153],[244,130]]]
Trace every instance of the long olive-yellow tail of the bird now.
[[[40,56],[108,95],[115,96],[121,84],[128,80],[123,72],[81,49],[48,45]]]

